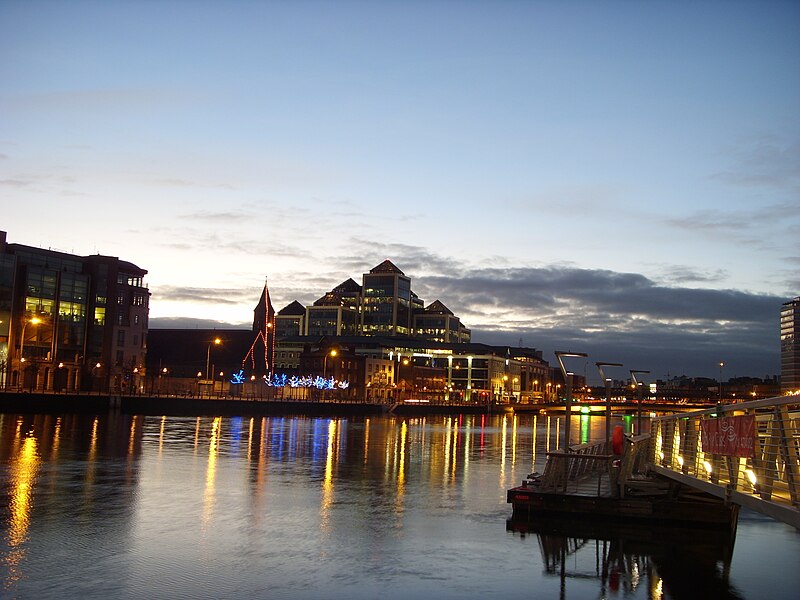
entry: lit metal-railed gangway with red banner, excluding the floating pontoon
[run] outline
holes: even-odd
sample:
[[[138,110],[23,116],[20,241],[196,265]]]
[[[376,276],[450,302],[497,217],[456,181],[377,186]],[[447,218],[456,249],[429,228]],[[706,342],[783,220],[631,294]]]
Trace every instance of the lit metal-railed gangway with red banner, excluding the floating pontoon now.
[[[651,470],[800,528],[800,397],[651,420]]]

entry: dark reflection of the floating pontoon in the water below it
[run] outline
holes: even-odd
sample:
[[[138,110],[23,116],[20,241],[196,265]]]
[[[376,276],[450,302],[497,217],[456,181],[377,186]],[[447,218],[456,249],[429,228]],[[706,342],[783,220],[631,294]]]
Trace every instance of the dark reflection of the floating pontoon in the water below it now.
[[[509,519],[506,527],[536,536],[545,575],[560,580],[561,598],[585,597],[590,581],[599,598],[627,597],[639,588],[652,600],[742,598],[729,581],[734,539],[728,531],[552,516]]]

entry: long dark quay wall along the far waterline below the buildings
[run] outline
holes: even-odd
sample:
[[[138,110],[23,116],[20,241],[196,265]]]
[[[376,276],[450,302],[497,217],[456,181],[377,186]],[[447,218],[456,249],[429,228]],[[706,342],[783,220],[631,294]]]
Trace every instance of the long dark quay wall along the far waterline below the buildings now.
[[[97,394],[2,393],[0,412],[22,414],[105,413],[158,416],[267,416],[267,415],[380,415],[485,414],[484,405],[377,404],[349,401],[239,400],[176,396],[114,396]]]

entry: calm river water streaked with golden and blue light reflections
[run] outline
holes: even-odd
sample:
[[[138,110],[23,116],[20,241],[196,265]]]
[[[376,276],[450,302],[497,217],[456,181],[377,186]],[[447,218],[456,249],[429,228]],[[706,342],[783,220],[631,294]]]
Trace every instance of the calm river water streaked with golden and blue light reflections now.
[[[0,414],[0,597],[800,597],[800,534],[754,513],[732,547],[511,522],[559,424]]]

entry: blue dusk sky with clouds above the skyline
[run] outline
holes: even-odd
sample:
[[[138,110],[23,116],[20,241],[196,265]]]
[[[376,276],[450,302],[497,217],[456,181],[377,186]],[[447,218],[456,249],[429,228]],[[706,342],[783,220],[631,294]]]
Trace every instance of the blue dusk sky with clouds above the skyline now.
[[[151,327],[388,258],[590,377],[775,375],[800,2],[0,0],[0,195],[9,242],[147,269]]]

